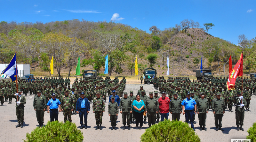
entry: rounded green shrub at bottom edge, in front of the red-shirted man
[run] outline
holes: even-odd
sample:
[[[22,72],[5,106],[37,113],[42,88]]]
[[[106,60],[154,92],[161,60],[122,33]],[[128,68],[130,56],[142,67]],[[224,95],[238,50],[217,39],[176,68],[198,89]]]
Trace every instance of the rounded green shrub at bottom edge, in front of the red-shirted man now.
[[[199,136],[187,123],[170,119],[151,126],[140,139],[141,142],[200,142]]]

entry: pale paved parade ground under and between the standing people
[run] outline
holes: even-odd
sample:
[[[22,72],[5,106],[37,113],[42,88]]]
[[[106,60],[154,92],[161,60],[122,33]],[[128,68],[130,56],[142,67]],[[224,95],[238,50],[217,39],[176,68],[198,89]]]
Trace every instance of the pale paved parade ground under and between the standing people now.
[[[151,91],[156,91],[153,88],[153,85],[143,85],[146,90],[146,94]],[[126,89],[124,92],[134,91],[137,92],[139,90],[140,84],[129,84],[126,85]],[[246,138],[248,135],[247,130],[250,126],[252,126],[253,122],[255,122],[255,110],[256,110],[256,97],[253,95],[251,100],[251,112],[245,112],[244,118],[244,131],[236,131],[236,119],[235,112],[228,112],[223,116],[222,125],[225,131],[215,131],[214,125],[214,115],[210,109],[207,114],[206,120],[206,128],[207,131],[199,131],[199,124],[195,124],[196,133],[200,136],[201,141],[223,141],[230,142],[231,138]],[[33,129],[38,125],[36,120],[36,112],[33,109],[33,99],[34,96],[27,96],[27,103],[25,105],[25,116],[24,116],[24,127],[23,128],[15,128],[17,123],[17,117],[15,113],[15,103],[8,104],[8,102],[4,102],[4,106],[0,107],[1,115],[0,115],[0,123],[1,123],[1,131],[0,131],[0,141],[3,142],[17,142],[23,141],[22,139],[26,138],[26,133],[30,133]],[[84,141],[113,141],[114,139],[118,139],[118,141],[140,141],[140,136],[144,133],[145,129],[147,129],[147,125],[143,125],[142,130],[135,130],[135,124],[131,126],[133,129],[131,130],[122,130],[123,124],[122,117],[119,113],[117,119],[117,130],[110,130],[110,120],[108,116],[107,106],[108,103],[105,103],[106,111],[103,115],[103,129],[95,130],[95,118],[92,111],[88,114],[88,129],[82,129],[84,135]],[[91,104],[92,107],[92,104]],[[233,107],[235,109],[235,107]],[[171,115],[169,115],[169,119]],[[185,116],[181,114],[181,121],[185,121]],[[50,120],[50,115],[46,112],[44,115],[44,122]],[[62,112],[59,113],[59,121],[64,121],[64,117]],[[196,121],[198,121],[198,117],[196,115]],[[80,126],[79,116],[72,115],[72,122],[76,123],[78,129]],[[79,129],[80,130],[80,129]]]

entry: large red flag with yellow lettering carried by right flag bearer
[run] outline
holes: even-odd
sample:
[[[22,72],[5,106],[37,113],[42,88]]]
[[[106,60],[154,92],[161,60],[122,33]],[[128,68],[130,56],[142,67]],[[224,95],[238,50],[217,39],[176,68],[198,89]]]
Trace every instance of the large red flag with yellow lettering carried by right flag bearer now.
[[[243,53],[241,53],[240,59],[236,63],[233,70],[229,72],[228,81],[227,81],[228,90],[234,90],[237,76],[243,77]]]

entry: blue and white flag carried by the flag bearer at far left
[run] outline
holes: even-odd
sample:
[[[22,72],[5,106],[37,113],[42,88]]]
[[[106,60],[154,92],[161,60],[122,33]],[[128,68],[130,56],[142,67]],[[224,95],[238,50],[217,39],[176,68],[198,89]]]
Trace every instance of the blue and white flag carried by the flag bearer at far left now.
[[[16,81],[17,77],[17,64],[16,64],[16,54],[12,57],[11,62],[7,65],[4,71],[1,73],[9,76],[12,82]]]

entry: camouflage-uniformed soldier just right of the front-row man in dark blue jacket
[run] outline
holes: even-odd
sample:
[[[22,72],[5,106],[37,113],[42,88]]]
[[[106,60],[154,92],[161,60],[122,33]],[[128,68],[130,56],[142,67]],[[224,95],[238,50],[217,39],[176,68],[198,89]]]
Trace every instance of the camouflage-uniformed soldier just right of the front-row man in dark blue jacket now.
[[[100,97],[100,92],[96,92],[96,97],[93,98],[92,101],[92,110],[93,113],[95,114],[95,119],[96,119],[96,125],[97,127],[95,130],[102,130],[101,124],[102,124],[102,116],[103,112],[105,112],[105,103],[102,97]],[[99,126],[100,125],[100,126]]]

